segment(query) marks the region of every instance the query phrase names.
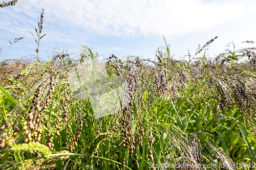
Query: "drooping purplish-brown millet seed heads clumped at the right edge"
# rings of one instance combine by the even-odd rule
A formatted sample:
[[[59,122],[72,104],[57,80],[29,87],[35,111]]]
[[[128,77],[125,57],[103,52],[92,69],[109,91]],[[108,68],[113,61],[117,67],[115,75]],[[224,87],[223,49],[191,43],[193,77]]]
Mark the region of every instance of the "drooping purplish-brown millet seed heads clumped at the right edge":
[[[241,68],[227,67],[219,71],[216,75],[213,75],[209,80],[210,87],[214,89],[211,95],[215,95],[214,97],[218,101],[218,104],[215,104],[213,107],[213,112],[215,113],[217,125],[219,126],[223,108],[232,109],[233,106],[236,106],[245,127],[255,132],[255,120],[252,117],[255,116],[256,105],[252,101],[256,100],[254,92],[256,90],[256,84],[249,80],[251,75],[247,73],[236,74],[236,72],[242,71]],[[217,109],[217,105],[220,106],[219,109]],[[229,126],[231,127],[231,125]]]

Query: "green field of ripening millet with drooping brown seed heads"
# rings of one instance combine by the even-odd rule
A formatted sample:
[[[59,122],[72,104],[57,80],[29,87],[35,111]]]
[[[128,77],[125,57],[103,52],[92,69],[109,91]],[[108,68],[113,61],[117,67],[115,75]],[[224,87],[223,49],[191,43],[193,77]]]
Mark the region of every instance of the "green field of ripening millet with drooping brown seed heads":
[[[256,48],[42,62],[43,14],[37,58],[0,64],[0,169],[255,169]]]

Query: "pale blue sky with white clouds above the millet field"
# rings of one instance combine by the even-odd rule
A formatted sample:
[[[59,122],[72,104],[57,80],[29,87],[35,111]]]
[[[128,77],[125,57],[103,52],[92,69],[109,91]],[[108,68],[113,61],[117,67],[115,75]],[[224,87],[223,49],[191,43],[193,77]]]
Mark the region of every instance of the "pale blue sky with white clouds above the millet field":
[[[20,2],[24,4],[0,8],[0,61],[36,55],[37,44],[30,31],[36,35],[42,8],[42,34],[46,36],[40,40],[39,57],[45,60],[53,56],[54,49],[77,53],[81,45],[92,47],[103,58],[115,54],[155,59],[157,48],[165,44],[163,36],[176,59],[187,55],[187,50],[195,53],[198,44],[216,36],[209,47],[213,54],[223,52],[229,42],[256,42],[254,0]],[[9,40],[16,37],[25,38],[11,45]]]

